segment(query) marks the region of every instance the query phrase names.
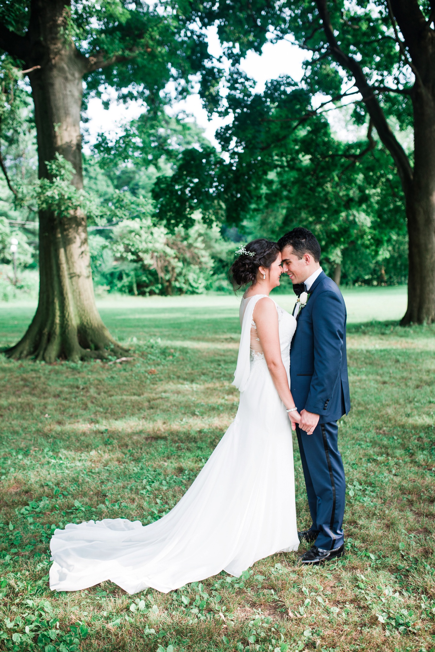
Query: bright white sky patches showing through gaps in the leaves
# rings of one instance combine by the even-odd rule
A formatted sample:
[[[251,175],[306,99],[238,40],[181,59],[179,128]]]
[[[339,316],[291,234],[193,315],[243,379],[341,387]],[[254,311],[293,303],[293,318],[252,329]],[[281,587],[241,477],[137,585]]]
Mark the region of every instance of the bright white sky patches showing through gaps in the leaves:
[[[214,28],[208,29],[208,51],[213,55],[219,55],[220,53],[219,39]],[[249,77],[256,80],[257,91],[262,91],[266,81],[275,79],[282,74],[288,74],[294,80],[299,81],[302,78],[302,62],[306,56],[307,52],[300,50],[300,48],[286,40],[281,40],[275,44],[266,43],[262,48],[261,55],[250,52],[244,59],[242,67]],[[322,99],[324,100],[324,98]],[[115,134],[117,131],[122,130],[123,123],[128,123],[130,120],[139,117],[144,110],[145,107],[140,102],[130,102],[127,105],[118,103],[115,93],[113,93],[113,100],[108,110],[103,108],[101,100],[92,99],[89,102],[87,111],[89,122],[86,125],[87,136],[85,140],[92,143],[95,141],[98,132]],[[178,113],[178,111],[191,113],[198,125],[204,128],[206,138],[214,145],[217,144],[214,134],[216,129],[223,124],[223,121],[218,116],[213,117],[211,120],[208,119],[199,95],[192,94],[186,101],[176,104],[173,112]],[[344,124],[344,115],[341,117],[339,111],[331,111],[328,117],[333,130],[339,138],[353,140],[349,138],[348,125]],[[86,144],[83,149],[89,153],[89,147]]]

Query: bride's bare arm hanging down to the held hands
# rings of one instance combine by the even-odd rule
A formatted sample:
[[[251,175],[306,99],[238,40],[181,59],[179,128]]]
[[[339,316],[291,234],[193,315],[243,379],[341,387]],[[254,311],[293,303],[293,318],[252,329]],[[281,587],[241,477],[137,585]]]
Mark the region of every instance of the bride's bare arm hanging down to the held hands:
[[[287,409],[294,408],[294,400],[290,392],[290,387],[288,387],[287,372],[281,359],[278,314],[274,301],[268,297],[259,299],[257,304],[255,304],[253,319],[257,325],[257,334],[261,348],[263,349],[264,358],[266,359],[277,393]],[[300,414],[295,410],[294,412],[289,412],[288,417],[292,422],[292,429],[294,430],[295,423],[300,422]]]

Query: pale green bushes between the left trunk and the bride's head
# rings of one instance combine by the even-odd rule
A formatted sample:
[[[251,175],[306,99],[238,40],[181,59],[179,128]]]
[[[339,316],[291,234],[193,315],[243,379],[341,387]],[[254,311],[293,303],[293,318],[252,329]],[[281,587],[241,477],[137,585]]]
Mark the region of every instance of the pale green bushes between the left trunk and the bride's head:
[[[219,227],[196,216],[193,226],[173,231],[146,216],[123,220],[111,239],[89,237],[92,274],[98,286],[135,295],[199,294],[226,283],[227,259],[234,243]]]

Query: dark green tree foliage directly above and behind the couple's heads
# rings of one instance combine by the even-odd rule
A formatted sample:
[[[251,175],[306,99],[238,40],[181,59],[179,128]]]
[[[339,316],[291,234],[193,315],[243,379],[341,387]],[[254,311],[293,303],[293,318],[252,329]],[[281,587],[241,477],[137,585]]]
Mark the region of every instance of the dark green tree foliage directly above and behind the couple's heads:
[[[234,115],[219,130],[225,161],[202,147],[182,151],[172,177],[153,188],[163,215],[186,223],[194,208],[223,213],[246,239],[279,238],[303,224],[318,237],[322,264],[344,282],[406,282],[406,221],[391,156],[368,142],[331,134],[326,115],[290,78],[253,93],[240,76],[225,100]]]

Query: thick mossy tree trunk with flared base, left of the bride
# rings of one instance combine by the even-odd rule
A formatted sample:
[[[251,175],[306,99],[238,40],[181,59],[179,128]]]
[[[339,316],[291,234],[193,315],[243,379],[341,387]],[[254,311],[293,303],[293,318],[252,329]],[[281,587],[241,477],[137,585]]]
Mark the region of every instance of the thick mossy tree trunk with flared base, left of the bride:
[[[40,1],[40,11],[63,10],[63,3]],[[76,171],[73,183],[82,188],[79,130],[82,76],[81,55],[59,35],[59,16],[45,16],[42,35],[47,55],[44,65],[29,74],[38,140],[39,177],[49,177],[46,161],[60,153]],[[63,18],[63,14],[61,14]],[[7,355],[79,360],[105,357],[107,349],[120,351],[100,318],[92,286],[86,216],[81,210],[61,218],[52,211],[39,215],[40,288],[35,317],[27,333]]]

